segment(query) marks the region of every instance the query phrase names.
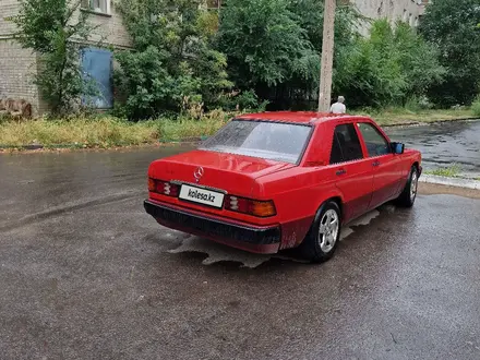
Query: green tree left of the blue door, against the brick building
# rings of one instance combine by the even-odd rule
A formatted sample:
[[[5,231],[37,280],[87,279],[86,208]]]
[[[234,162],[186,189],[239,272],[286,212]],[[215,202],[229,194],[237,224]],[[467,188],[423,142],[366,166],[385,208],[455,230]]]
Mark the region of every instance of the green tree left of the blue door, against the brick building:
[[[35,82],[57,113],[71,110],[83,95],[97,94],[80,68],[79,40],[87,39],[94,27],[79,7],[80,1],[21,0],[12,19],[19,28],[16,40],[39,55]]]

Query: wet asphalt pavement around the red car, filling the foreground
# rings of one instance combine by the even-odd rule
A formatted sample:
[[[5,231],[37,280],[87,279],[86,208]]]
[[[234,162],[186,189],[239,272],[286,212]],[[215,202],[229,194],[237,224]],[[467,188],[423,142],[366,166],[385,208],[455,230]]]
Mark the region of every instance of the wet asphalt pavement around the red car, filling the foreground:
[[[385,206],[320,266],[206,266],[143,212],[157,156],[0,156],[1,359],[480,358],[479,200]]]

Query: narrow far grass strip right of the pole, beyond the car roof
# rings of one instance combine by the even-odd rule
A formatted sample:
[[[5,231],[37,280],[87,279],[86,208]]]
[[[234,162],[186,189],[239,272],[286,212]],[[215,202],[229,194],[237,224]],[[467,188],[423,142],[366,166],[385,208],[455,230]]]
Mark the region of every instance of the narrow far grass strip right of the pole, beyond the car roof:
[[[384,110],[353,111],[355,115],[372,117],[381,125],[401,125],[411,123],[430,123],[455,119],[478,118],[471,109],[448,110],[408,110],[405,108],[387,108]]]

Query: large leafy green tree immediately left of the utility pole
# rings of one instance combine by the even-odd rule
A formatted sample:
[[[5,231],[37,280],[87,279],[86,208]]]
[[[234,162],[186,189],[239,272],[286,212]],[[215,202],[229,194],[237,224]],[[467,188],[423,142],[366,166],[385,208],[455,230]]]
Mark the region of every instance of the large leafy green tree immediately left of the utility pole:
[[[317,61],[287,0],[227,0],[218,37],[230,77],[242,89],[309,76]]]

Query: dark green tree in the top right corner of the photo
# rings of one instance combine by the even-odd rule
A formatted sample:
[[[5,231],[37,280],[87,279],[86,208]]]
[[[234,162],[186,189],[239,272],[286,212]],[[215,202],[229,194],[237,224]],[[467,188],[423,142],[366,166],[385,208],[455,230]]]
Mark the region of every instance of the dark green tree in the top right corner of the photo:
[[[480,91],[480,0],[435,0],[427,7],[420,33],[440,50],[445,82],[430,96],[442,106],[470,104]]]

